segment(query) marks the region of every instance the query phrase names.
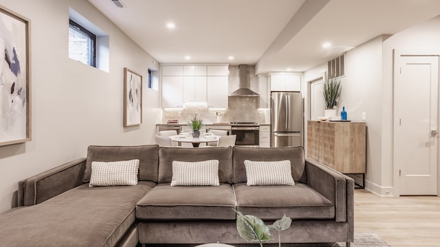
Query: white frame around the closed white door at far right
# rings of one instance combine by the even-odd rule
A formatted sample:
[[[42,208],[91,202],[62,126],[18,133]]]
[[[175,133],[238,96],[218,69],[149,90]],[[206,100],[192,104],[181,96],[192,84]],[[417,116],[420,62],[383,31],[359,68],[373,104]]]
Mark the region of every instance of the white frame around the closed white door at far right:
[[[399,170],[401,165],[395,162],[395,75],[399,73],[399,59],[400,56],[437,56],[439,57],[439,73],[440,73],[440,49],[393,49],[393,180],[395,196],[400,196],[401,193],[401,176]],[[439,76],[439,92],[437,92],[437,128],[440,131],[440,76]],[[437,196],[440,196],[440,142],[437,145]]]

